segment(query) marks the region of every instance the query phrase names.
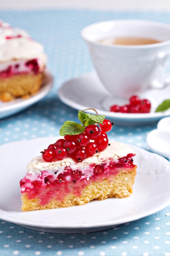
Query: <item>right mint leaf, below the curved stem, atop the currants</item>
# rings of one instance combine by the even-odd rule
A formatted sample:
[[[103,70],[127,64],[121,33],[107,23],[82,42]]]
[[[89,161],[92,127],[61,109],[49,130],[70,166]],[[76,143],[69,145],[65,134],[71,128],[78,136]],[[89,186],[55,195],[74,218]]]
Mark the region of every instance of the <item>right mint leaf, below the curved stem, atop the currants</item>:
[[[80,122],[83,124],[83,126],[88,126],[90,124],[102,124],[103,120],[105,119],[105,116],[103,115],[94,115],[89,113],[84,113],[82,111],[78,112],[78,118]]]

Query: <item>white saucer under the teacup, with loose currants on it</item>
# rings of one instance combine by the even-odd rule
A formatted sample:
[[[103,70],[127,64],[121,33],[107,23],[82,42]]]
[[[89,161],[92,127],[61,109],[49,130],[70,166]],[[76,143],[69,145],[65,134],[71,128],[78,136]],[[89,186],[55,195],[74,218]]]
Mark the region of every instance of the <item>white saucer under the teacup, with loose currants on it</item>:
[[[169,81],[169,75],[167,74],[166,81]],[[114,83],[114,81],[113,81]],[[66,81],[62,87],[58,90],[60,99],[77,110],[84,110],[86,108],[95,108],[99,115],[106,115],[107,117],[113,117],[116,123],[121,124],[145,124],[153,121],[158,121],[162,117],[170,115],[170,110],[165,112],[157,112],[154,110],[166,97],[170,98],[170,86],[167,85],[162,89],[150,89],[146,92],[139,93],[141,99],[149,99],[152,104],[152,110],[150,113],[130,114],[130,113],[115,113],[110,112],[109,108],[112,105],[127,104],[128,100],[115,98],[106,91],[96,72],[84,74],[75,79]],[[93,110],[88,110],[94,114]]]

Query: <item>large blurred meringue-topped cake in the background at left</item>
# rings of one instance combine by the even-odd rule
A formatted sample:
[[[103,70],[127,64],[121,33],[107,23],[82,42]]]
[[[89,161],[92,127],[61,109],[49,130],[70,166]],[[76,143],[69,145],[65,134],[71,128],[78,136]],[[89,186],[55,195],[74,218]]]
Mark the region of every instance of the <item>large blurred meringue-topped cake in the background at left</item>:
[[[45,68],[43,46],[0,20],[0,100],[25,99],[38,92]]]

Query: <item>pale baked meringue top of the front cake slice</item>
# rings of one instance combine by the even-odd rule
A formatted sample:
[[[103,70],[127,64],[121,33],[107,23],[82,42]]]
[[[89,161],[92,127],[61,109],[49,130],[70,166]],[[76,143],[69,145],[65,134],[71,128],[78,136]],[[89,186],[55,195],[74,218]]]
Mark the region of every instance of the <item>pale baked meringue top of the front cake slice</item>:
[[[103,161],[107,161],[107,159],[110,157],[113,159],[118,159],[130,153],[135,154],[135,151],[124,143],[112,141],[110,142],[110,146],[108,146],[105,150],[101,151],[100,153],[96,153],[93,157],[86,158],[80,163],[75,163],[75,161],[70,157],[66,157],[62,161],[56,162],[45,162],[42,159],[42,155],[34,157],[31,162],[26,166],[26,171],[33,175],[37,175],[44,170],[52,172],[57,171],[58,175],[59,173],[63,173],[64,167],[70,165],[72,170],[79,169],[81,171],[84,171],[89,164],[100,164]]]

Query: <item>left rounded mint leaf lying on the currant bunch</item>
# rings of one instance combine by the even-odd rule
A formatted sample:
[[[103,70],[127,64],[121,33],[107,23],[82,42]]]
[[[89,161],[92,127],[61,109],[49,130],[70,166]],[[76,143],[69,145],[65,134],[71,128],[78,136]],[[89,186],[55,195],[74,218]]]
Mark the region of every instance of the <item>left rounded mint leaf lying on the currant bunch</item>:
[[[60,136],[64,135],[75,135],[84,132],[84,127],[82,124],[78,124],[73,121],[66,121],[62,125],[59,134]]]

